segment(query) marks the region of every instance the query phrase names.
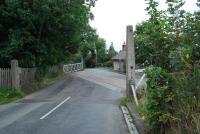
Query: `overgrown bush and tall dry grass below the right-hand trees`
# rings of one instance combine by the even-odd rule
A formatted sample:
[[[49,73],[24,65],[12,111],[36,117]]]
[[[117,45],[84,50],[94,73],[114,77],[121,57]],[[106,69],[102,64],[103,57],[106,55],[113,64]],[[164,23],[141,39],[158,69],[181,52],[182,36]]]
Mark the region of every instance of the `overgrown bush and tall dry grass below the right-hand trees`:
[[[200,66],[167,73],[148,67],[145,117],[153,134],[200,132]]]

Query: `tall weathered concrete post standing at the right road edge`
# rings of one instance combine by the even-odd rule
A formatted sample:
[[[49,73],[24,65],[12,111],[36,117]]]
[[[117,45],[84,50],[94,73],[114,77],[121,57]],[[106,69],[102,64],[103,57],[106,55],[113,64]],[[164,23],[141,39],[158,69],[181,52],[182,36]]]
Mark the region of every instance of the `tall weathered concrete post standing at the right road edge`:
[[[130,84],[135,84],[135,48],[133,40],[133,27],[126,28],[126,94],[132,95]]]

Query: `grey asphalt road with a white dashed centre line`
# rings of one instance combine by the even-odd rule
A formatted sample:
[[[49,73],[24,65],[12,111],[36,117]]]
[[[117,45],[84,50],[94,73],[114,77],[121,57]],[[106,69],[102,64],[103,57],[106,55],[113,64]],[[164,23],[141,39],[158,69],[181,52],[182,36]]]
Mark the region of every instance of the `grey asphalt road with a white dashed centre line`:
[[[0,134],[128,134],[119,99],[125,76],[102,69],[77,72],[0,106]]]

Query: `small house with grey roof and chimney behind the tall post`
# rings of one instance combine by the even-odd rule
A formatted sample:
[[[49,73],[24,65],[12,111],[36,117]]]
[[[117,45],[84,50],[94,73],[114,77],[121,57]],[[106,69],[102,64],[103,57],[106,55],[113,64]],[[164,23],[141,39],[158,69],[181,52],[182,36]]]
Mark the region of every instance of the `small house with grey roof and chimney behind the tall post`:
[[[126,45],[122,45],[122,50],[112,58],[113,70],[121,73],[126,72]]]

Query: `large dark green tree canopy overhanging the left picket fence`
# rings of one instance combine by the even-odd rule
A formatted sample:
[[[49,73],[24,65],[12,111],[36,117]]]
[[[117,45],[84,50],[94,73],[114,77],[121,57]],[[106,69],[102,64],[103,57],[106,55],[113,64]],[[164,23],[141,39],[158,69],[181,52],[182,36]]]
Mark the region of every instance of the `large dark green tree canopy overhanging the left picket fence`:
[[[95,0],[3,0],[0,2],[0,64],[49,66],[76,53],[89,32]]]

